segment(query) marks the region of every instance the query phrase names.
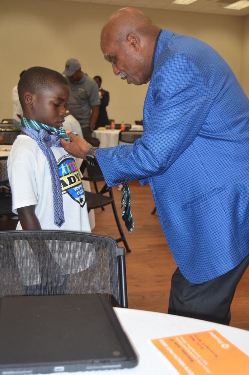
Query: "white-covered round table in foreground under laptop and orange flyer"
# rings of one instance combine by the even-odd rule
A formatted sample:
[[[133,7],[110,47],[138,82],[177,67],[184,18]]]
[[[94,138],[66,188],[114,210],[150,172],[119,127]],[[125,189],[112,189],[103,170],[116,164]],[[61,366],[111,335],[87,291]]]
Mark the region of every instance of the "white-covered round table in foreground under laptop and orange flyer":
[[[177,375],[179,372],[152,344],[151,339],[207,330],[217,330],[238,348],[249,353],[249,331],[246,330],[177,315],[124,308],[114,309],[133,344],[139,363],[131,369],[86,371],[81,372],[82,375]],[[80,372],[73,374],[79,375]]]

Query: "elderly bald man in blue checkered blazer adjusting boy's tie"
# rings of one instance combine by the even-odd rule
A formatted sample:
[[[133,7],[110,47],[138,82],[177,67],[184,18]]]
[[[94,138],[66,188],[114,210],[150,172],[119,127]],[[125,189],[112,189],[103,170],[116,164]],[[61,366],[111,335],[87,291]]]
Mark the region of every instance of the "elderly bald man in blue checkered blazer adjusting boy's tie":
[[[90,149],[109,186],[149,183],[178,268],[169,313],[229,324],[235,288],[249,263],[249,100],[233,72],[200,40],[161,30],[139,10],[115,12],[101,33],[114,74],[150,81],[142,138]]]

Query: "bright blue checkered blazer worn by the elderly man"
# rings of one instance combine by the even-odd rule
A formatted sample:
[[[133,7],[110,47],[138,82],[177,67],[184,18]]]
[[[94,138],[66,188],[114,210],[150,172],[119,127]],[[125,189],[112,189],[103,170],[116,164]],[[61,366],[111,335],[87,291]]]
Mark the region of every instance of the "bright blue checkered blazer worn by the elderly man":
[[[149,182],[163,233],[190,282],[228,272],[249,254],[248,98],[214,49],[163,30],[143,123],[133,147],[97,151],[107,184]]]

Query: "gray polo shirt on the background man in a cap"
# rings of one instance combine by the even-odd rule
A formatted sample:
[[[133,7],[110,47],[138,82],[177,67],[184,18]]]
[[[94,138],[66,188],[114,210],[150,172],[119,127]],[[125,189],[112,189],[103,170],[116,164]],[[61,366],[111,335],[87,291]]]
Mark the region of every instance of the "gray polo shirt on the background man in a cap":
[[[66,78],[68,81],[68,79]],[[81,127],[89,125],[91,107],[100,105],[100,96],[97,83],[83,74],[80,81],[70,83],[70,96],[68,100],[68,109],[71,114],[77,118]]]

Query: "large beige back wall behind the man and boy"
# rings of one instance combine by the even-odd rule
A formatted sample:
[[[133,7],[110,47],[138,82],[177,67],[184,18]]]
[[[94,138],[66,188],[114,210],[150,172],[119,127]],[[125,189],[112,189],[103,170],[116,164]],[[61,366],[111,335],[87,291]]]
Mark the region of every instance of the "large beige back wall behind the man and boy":
[[[12,117],[12,87],[23,69],[39,65],[61,72],[70,57],[80,60],[90,77],[103,78],[103,88],[110,92],[109,118],[127,123],[141,119],[146,85],[129,86],[115,77],[99,46],[101,28],[118,8],[72,1],[1,0],[0,119]],[[241,64],[241,57],[248,67],[249,26],[241,17],[142,10],[160,27],[197,37],[214,47],[248,91],[248,69]],[[247,52],[242,51],[242,43]]]

